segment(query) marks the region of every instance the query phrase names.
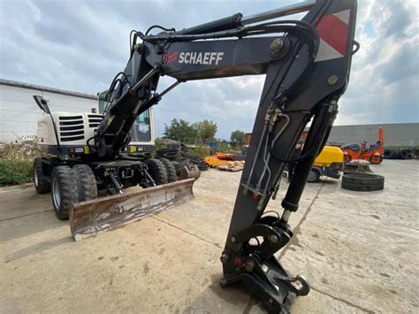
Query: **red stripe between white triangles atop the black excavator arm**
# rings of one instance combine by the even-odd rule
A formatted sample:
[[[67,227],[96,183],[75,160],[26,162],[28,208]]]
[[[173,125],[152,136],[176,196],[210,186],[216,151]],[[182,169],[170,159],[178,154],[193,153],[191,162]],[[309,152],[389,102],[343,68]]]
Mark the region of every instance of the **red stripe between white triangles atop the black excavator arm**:
[[[349,26],[333,14],[325,15],[316,25],[317,32],[331,47],[345,56],[347,51],[347,31]]]

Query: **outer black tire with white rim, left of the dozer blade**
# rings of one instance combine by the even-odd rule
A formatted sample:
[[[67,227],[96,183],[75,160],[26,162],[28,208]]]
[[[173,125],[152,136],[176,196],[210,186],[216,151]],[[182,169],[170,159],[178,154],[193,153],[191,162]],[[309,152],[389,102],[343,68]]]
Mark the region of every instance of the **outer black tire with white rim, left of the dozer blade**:
[[[59,207],[54,202],[54,180],[57,180],[60,191]],[[77,203],[79,200],[77,181],[72,168],[68,165],[58,165],[51,173],[51,200],[57,218],[60,220],[68,219],[72,203]]]

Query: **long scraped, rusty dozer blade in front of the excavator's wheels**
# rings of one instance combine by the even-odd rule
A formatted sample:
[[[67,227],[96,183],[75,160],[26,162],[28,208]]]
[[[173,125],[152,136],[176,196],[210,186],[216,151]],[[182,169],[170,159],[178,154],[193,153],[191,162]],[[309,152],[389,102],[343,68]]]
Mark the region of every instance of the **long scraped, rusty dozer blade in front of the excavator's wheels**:
[[[194,198],[194,179],[180,180],[141,191],[74,203],[70,227],[75,241],[124,226]]]

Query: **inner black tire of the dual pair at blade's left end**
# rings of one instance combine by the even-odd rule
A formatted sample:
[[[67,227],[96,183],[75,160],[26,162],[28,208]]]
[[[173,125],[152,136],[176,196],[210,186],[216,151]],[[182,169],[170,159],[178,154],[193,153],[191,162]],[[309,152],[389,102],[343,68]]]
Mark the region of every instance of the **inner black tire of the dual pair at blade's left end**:
[[[95,174],[88,165],[73,165],[72,172],[76,178],[79,202],[97,198]]]

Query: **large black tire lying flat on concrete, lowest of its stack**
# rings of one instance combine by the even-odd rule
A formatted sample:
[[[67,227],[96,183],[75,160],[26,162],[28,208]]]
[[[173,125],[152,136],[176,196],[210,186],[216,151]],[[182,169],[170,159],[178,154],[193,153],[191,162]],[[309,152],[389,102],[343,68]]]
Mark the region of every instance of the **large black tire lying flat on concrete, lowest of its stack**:
[[[385,177],[370,173],[350,173],[342,176],[342,188],[369,192],[384,189]]]

